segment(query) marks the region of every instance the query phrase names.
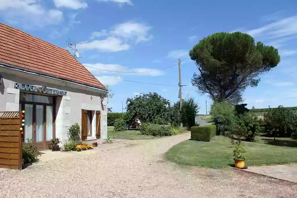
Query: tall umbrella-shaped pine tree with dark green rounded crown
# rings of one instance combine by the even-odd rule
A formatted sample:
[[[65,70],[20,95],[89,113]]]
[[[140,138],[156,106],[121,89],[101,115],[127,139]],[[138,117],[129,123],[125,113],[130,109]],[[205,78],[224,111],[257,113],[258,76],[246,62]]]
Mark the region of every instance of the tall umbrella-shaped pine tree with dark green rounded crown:
[[[253,37],[241,32],[209,35],[189,51],[189,56],[198,67],[199,73],[192,78],[198,92],[232,104],[240,103],[243,91],[257,86],[260,74],[280,62],[276,48],[255,44]]]

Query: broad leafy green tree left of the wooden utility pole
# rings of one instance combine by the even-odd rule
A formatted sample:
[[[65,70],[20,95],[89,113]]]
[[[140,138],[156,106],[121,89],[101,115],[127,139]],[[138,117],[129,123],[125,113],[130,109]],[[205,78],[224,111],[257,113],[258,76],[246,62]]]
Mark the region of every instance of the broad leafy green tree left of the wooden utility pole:
[[[168,124],[172,116],[170,101],[156,92],[140,94],[126,101],[128,121],[131,123],[138,116],[141,122]]]

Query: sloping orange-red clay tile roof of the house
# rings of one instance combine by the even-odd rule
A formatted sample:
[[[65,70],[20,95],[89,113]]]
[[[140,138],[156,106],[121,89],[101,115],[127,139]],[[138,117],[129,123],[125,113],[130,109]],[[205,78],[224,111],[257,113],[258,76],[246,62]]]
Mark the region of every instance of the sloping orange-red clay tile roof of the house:
[[[105,88],[67,50],[2,23],[0,23],[0,62]]]

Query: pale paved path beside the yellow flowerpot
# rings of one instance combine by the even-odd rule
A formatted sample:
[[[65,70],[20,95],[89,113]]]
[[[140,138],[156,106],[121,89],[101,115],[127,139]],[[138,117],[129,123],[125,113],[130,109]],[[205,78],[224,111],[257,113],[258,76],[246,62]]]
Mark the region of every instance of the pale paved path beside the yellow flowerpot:
[[[265,175],[279,180],[297,183],[297,164],[276,166],[250,166],[248,167],[248,169],[243,170],[246,172]]]

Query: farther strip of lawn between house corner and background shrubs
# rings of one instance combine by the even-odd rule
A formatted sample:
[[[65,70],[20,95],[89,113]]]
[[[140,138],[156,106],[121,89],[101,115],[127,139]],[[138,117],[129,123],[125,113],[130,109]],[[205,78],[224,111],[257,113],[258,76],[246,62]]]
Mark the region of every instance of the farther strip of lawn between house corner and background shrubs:
[[[140,131],[138,130],[127,130],[127,131],[113,131],[112,126],[107,127],[107,132],[109,136],[113,136],[114,139],[131,139],[131,140],[137,140],[137,139],[155,139],[159,138],[156,136],[147,136],[140,134]],[[179,134],[186,133],[189,131],[182,131]]]

